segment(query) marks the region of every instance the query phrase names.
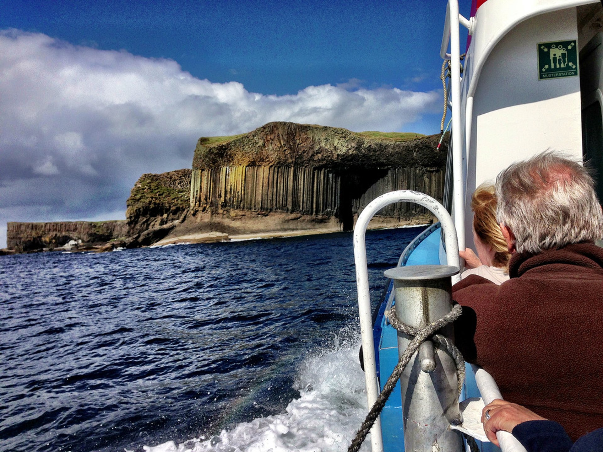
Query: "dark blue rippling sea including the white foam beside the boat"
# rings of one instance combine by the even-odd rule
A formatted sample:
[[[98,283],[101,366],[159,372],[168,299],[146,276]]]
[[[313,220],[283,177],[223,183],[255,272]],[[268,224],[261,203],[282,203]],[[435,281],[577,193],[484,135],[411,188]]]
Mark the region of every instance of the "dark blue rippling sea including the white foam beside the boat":
[[[420,229],[367,233],[374,303]],[[350,233],[0,257],[0,450],[345,451],[355,282]]]

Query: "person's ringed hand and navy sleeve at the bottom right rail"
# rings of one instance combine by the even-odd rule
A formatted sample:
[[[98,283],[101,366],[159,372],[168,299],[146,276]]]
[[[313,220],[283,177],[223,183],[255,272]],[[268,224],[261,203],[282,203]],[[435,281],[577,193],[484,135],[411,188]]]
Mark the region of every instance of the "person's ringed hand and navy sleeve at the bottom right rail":
[[[528,452],[603,452],[603,428],[581,436],[575,444],[563,427],[526,407],[496,399],[482,410],[484,432],[499,445],[496,432],[511,433]]]

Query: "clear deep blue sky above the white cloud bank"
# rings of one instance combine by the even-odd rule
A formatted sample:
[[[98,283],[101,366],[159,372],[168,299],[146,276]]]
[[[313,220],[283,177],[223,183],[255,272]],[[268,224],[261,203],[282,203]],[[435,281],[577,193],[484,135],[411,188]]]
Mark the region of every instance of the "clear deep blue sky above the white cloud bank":
[[[266,95],[349,79],[438,87],[429,78],[440,64],[441,0],[3,3],[0,28],[171,58],[195,77]]]

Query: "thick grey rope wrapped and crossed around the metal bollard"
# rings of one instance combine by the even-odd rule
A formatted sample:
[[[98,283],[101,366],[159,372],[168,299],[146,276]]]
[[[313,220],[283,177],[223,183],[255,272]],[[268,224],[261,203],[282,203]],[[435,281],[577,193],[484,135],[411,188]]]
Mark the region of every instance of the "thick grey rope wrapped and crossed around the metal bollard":
[[[461,394],[461,389],[463,388],[463,381],[465,380],[465,361],[463,359],[463,355],[461,354],[461,352],[458,351],[458,349],[454,346],[454,344],[452,344],[452,342],[447,337],[442,336],[441,334],[435,334],[435,332],[440,330],[440,328],[455,321],[461,315],[461,305],[455,304],[455,306],[452,307],[452,310],[445,316],[443,316],[441,319],[438,319],[435,322],[431,322],[429,325],[426,325],[425,328],[421,329],[410,327],[409,325],[400,322],[396,318],[395,310],[396,306],[393,306],[389,311],[385,312],[385,316],[390,321],[391,325],[396,328],[396,330],[404,334],[408,334],[408,336],[414,337],[412,337],[412,341],[408,344],[408,347],[406,347],[406,350],[404,351],[404,353],[402,353],[402,356],[400,356],[396,367],[394,368],[393,372],[391,372],[390,378],[388,378],[387,383],[385,383],[383,391],[381,391],[381,394],[379,394],[379,396],[377,397],[377,400],[375,401],[373,407],[368,412],[368,415],[364,419],[364,422],[362,422],[362,425],[360,426],[358,432],[356,432],[356,436],[352,440],[352,444],[350,444],[350,447],[347,449],[347,452],[358,452],[360,450],[362,442],[364,442],[365,438],[368,435],[368,432],[370,431],[371,427],[373,427],[374,422],[377,420],[377,417],[379,417],[381,410],[385,406],[385,402],[387,402],[387,399],[390,397],[391,392],[396,387],[396,383],[399,380],[400,375],[402,375],[402,372],[406,368],[406,365],[408,365],[409,361],[411,360],[411,357],[418,350],[418,347],[419,345],[421,345],[422,342],[431,339],[431,341],[434,342],[436,346],[448,351],[450,356],[452,356],[452,359],[454,359],[456,363],[458,394]]]

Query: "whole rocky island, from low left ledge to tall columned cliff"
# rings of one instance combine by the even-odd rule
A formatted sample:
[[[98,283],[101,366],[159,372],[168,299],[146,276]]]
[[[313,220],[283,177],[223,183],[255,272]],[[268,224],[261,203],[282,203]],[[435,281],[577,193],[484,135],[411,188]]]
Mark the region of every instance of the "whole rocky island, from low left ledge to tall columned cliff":
[[[139,178],[125,221],[9,222],[7,245],[17,253],[109,251],[352,230],[359,212],[382,193],[411,189],[441,200],[447,141],[437,149],[439,138],[291,122],[201,137],[191,169]],[[371,225],[432,220],[422,207],[399,203]]]

